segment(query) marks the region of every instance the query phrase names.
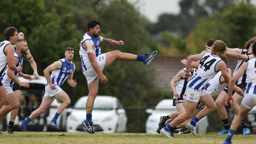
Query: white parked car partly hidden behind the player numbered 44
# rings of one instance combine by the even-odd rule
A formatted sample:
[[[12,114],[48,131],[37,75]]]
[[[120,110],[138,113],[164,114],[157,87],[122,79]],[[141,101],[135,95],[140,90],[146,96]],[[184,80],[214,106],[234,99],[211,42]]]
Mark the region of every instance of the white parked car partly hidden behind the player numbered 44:
[[[146,122],[146,133],[157,133],[158,122],[161,116],[167,116],[175,111],[173,106],[173,99],[161,100],[155,107],[155,109],[147,109],[146,112],[150,113]],[[197,133],[206,133],[208,127],[207,116],[199,120],[197,123]]]

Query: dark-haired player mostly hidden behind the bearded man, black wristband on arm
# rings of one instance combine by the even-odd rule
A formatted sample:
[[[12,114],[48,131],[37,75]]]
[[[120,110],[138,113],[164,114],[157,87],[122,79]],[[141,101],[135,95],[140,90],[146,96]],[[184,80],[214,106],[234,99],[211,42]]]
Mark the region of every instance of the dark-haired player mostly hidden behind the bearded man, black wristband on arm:
[[[25,36],[24,36],[24,33],[22,30],[17,30],[17,33],[18,33],[18,39],[25,39]],[[14,47],[16,50],[16,45],[14,45]],[[33,75],[34,75],[35,79],[38,79],[39,75],[37,73],[37,64],[35,63],[29,49],[26,51],[26,54],[24,54],[24,57],[30,63],[30,65],[34,71]],[[20,100],[20,85],[18,85],[17,83],[14,83],[13,84],[13,92],[14,92],[17,100]],[[9,134],[13,134],[13,125],[14,125],[15,118],[17,117],[17,114],[19,111],[19,102],[20,101],[18,101],[18,107],[11,111],[11,118],[10,118],[9,124],[6,129],[6,132]]]

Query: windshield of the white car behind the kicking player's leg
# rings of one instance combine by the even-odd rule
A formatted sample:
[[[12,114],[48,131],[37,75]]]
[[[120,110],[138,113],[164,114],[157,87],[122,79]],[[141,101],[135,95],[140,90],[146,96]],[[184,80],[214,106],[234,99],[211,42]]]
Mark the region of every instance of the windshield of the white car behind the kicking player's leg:
[[[87,97],[80,98],[74,105],[74,108],[85,109],[86,100],[87,100]],[[113,110],[113,102],[111,99],[105,99],[105,98],[101,99],[100,97],[97,97],[94,101],[93,109],[104,110],[104,111]]]

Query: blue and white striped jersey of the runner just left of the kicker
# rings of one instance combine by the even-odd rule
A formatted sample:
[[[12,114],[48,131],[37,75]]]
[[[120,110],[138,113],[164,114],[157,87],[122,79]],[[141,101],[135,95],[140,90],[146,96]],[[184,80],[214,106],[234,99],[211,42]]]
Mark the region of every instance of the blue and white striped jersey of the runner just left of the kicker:
[[[65,58],[59,59],[62,62],[61,68],[52,71],[50,79],[52,83],[57,84],[59,87],[64,83],[64,81],[69,77],[69,75],[74,71],[74,64],[71,61],[69,64]],[[48,83],[46,84],[46,86]]]

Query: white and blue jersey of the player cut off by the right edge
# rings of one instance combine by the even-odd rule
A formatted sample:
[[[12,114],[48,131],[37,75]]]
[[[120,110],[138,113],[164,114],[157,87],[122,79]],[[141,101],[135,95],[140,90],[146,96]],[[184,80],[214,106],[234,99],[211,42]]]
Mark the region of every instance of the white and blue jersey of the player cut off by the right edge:
[[[256,94],[256,58],[250,59],[246,68],[248,78],[246,94]]]

